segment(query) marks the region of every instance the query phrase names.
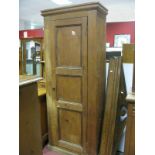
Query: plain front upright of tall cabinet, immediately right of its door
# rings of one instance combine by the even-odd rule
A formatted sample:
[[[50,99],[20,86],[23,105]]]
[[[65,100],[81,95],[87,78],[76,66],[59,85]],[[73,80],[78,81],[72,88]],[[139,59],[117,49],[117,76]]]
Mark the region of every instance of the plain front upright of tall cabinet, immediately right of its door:
[[[96,155],[96,96],[97,96],[97,36],[96,11],[88,15],[88,121],[87,121],[87,150],[89,155]]]

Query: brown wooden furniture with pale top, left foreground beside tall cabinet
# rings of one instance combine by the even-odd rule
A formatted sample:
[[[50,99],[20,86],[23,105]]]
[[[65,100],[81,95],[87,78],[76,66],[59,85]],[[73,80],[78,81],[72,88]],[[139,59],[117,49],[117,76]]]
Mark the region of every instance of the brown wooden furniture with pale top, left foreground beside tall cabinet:
[[[41,123],[35,76],[20,76],[19,83],[19,154],[42,155]]]

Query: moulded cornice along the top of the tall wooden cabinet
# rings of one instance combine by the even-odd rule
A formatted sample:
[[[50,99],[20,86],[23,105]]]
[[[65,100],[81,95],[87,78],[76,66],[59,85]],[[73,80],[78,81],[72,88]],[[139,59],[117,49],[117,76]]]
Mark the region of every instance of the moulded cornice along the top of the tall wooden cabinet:
[[[71,5],[71,6],[65,6],[65,7],[59,7],[54,9],[46,9],[41,11],[42,16],[48,16],[48,15],[54,15],[54,14],[62,14],[65,12],[73,12],[73,11],[82,11],[82,10],[98,10],[99,12],[103,14],[107,14],[108,10],[101,5],[99,2],[93,2],[93,3],[84,3],[79,5]]]

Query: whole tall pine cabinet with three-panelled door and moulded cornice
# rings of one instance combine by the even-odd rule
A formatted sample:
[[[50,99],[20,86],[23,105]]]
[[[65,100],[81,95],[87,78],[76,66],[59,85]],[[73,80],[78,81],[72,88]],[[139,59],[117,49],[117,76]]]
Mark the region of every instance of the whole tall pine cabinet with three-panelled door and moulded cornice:
[[[88,3],[42,11],[49,146],[96,155],[105,101],[107,9]]]

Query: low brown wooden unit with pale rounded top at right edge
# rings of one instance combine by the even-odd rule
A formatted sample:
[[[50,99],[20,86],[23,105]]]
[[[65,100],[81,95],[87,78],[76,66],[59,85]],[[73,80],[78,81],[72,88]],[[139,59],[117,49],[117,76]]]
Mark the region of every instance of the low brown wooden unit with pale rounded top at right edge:
[[[135,155],[135,95],[129,94],[126,100],[128,103],[128,118],[124,155]]]

